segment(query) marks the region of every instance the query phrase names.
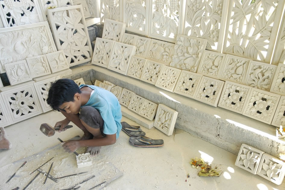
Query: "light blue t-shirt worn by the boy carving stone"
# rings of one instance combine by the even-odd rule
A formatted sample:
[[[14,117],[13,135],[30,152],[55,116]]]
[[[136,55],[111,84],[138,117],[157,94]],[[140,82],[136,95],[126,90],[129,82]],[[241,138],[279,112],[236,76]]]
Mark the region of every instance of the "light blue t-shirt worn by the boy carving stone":
[[[118,139],[122,129],[122,112],[117,97],[101,87],[85,84],[81,84],[79,87],[82,88],[84,86],[94,90],[94,93],[90,96],[88,102],[84,106],[92,106],[97,109],[104,120],[103,133],[106,135],[113,135],[116,133],[116,139]],[[81,108],[82,107],[83,106],[81,106]]]

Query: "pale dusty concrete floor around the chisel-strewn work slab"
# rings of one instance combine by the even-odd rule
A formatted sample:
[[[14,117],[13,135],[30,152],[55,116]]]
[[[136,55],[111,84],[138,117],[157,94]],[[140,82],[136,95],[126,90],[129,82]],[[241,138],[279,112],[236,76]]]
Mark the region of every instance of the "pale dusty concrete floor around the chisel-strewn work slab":
[[[41,123],[54,125],[62,119],[64,116],[59,112],[50,111],[6,127],[13,147],[11,150],[0,150],[0,167],[59,144],[58,137],[68,140],[76,135],[82,135],[76,127],[49,138],[40,132]],[[122,121],[137,125],[126,118]],[[195,138],[185,131],[177,129],[174,135],[166,136],[156,128],[142,129],[147,137],[163,139],[164,146],[134,147],[129,144],[129,137],[121,132],[116,144],[102,147],[100,154],[106,158],[106,162],[113,163],[124,175],[104,189],[285,189],[285,180],[282,185],[277,186],[258,175],[240,169],[234,165],[236,155]],[[213,163],[213,166],[218,165],[223,174],[220,177],[197,176],[199,170],[189,164],[193,157],[202,157],[205,161]],[[13,172],[7,173],[10,176]],[[1,173],[0,177],[8,179],[7,173]],[[189,178],[186,177],[188,173]]]

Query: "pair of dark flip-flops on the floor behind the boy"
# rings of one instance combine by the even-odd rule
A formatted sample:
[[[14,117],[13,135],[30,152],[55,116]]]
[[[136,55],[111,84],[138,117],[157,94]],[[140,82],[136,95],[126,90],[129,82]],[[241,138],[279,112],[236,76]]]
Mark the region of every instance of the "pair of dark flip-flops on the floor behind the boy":
[[[164,142],[162,139],[151,139],[145,137],[145,132],[141,130],[139,126],[129,125],[126,122],[122,122],[122,131],[130,136],[129,142],[136,147],[161,147]]]

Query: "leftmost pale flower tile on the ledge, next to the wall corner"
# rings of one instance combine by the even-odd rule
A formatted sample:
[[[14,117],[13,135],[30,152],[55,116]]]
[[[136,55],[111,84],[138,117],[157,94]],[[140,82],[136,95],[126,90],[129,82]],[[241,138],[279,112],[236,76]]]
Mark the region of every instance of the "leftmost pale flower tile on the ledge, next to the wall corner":
[[[92,64],[107,68],[115,41],[96,38]]]

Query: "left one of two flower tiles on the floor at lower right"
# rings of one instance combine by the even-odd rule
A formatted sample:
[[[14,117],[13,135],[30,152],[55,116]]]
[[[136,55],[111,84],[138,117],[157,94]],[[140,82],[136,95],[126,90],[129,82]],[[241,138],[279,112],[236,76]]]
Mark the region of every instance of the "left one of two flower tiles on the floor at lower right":
[[[263,151],[247,144],[242,144],[235,165],[250,173],[256,174],[262,154],[264,154]]]

